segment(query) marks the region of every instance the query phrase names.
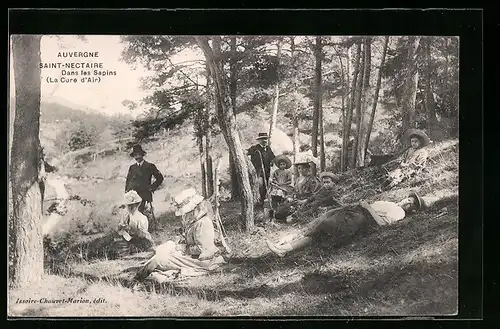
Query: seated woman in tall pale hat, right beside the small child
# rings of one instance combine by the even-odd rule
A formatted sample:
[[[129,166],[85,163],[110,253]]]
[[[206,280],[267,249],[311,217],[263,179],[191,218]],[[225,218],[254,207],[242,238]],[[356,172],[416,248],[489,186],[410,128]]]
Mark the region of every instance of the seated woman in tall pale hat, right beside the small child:
[[[274,214],[275,219],[292,222],[292,215],[297,209],[321,189],[321,181],[311,172],[311,166],[315,163],[316,159],[308,153],[297,156],[294,165],[297,166],[300,176],[295,181],[293,196],[278,207]]]

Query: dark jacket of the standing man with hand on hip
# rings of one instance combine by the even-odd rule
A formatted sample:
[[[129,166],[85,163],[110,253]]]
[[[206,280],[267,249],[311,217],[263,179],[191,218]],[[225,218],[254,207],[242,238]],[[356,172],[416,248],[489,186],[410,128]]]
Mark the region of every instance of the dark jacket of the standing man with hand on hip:
[[[155,178],[155,181],[151,183],[151,179]],[[150,162],[144,160],[144,162],[139,166],[134,163],[128,169],[127,181],[125,182],[125,192],[134,190],[139,194],[143,201],[152,202],[153,193],[158,186],[163,183],[163,175],[156,168],[156,166]]]

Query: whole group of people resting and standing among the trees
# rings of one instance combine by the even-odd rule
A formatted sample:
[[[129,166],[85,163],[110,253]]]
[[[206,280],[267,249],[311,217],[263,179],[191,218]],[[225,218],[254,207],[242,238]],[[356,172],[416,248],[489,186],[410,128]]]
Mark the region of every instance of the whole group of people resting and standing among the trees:
[[[428,154],[424,147],[429,144],[425,133],[411,130],[403,138],[409,141],[410,148],[399,159],[400,166],[388,173],[385,188],[395,186],[425,166]],[[311,153],[297,154],[292,164],[287,155],[274,155],[266,133],[259,134],[257,140],[258,144],[250,147],[247,155],[262,179],[261,200],[269,201],[271,220],[291,223],[311,219],[297,236],[286,237],[276,244],[267,241],[269,249],[279,256],[325,236],[333,239],[352,237],[365,228],[390,225],[405,218],[407,213],[428,207],[435,201],[430,196],[421,197],[411,192],[397,203],[376,201],[368,204],[362,201],[342,205],[336,190],[338,177],[331,172],[321,172],[319,177],[314,175],[312,169],[317,160]],[[175,214],[182,219],[181,235],[155,246],[150,233],[157,225],[152,196],[163,182],[163,175],[154,164],[144,160],[145,154],[140,145],[134,146],[131,156],[136,163],[130,166],[125,184],[127,211],[118,227],[123,240],[146,241],[149,249],[155,251],[136,278],[142,280],[152,273],[158,275],[169,271],[187,271],[196,275],[223,264],[227,250],[217,245],[222,232],[215,230],[214,210],[210,201],[194,189],[184,190],[172,200]],[[273,165],[276,169],[271,175]],[[295,179],[292,165],[299,173]],[[318,213],[320,208],[324,209],[321,215]]]

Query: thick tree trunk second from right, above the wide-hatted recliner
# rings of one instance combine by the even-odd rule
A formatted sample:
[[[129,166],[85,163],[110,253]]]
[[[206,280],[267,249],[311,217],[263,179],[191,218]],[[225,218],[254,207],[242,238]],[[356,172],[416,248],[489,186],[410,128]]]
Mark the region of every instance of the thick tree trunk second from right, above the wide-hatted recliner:
[[[406,78],[403,84],[401,110],[403,112],[402,133],[415,126],[415,100],[417,98],[418,70],[417,50],[420,37],[408,37],[408,57],[406,58]]]

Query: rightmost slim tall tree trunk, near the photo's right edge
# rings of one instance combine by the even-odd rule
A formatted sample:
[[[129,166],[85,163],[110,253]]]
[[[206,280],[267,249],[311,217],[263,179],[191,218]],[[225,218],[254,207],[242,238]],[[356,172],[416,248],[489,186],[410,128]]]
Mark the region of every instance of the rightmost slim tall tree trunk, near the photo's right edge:
[[[432,140],[438,140],[439,127],[436,117],[436,103],[434,101],[434,92],[432,91],[432,55],[431,55],[431,38],[422,40],[425,42],[425,108],[427,112],[427,132]]]

